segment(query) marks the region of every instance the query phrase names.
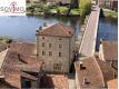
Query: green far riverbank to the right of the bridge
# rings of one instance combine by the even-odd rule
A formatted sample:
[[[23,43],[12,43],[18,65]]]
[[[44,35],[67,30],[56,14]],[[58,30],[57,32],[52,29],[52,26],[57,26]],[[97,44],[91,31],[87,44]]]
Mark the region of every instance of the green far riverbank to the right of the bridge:
[[[118,12],[116,12],[115,10],[110,10],[110,9],[101,9],[102,10],[102,14],[103,17],[107,18],[118,18]]]

